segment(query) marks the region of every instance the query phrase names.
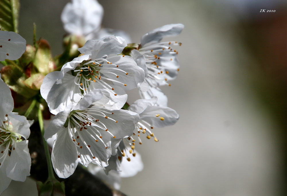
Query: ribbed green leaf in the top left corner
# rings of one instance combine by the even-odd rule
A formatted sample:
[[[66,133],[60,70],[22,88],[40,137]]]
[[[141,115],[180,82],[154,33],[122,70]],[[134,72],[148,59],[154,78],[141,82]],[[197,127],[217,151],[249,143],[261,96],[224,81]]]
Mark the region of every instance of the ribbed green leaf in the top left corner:
[[[0,0],[0,28],[18,33],[19,0]]]

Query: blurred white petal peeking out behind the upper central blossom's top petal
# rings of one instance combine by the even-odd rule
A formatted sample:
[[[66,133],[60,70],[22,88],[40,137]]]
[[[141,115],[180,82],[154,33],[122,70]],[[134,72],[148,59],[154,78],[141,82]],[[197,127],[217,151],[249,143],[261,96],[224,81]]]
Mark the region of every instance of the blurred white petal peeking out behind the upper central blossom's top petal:
[[[131,43],[131,37],[129,34],[127,34],[124,31],[121,30],[115,30],[115,29],[109,29],[109,28],[102,28],[100,31],[93,33],[93,35],[89,35],[87,38],[93,39],[93,40],[98,40],[107,36],[118,36],[122,37],[127,41],[127,43]]]

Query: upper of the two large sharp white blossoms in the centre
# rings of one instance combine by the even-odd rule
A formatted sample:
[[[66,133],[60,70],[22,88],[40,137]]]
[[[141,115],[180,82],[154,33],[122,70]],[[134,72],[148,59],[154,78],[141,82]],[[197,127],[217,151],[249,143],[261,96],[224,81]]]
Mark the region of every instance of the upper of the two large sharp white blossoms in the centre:
[[[127,46],[121,37],[109,36],[88,40],[79,51],[84,54],[63,65],[61,71],[51,72],[40,88],[51,113],[63,111],[69,104],[76,105],[81,97],[93,89],[110,93],[110,105],[120,109],[127,100],[125,90],[144,81],[144,60],[135,62],[120,54]],[[142,56],[144,59],[144,56]],[[72,71],[73,75],[67,72]],[[83,95],[82,95],[83,94]]]

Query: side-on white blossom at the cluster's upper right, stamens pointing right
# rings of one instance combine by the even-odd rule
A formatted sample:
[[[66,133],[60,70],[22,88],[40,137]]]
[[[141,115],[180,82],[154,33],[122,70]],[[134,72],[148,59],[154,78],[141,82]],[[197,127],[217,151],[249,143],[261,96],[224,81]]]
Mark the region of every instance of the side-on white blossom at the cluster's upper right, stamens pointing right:
[[[149,84],[148,91],[139,88],[143,99],[158,97],[156,105],[167,106],[167,97],[159,86],[170,85],[168,81],[177,77],[179,71],[178,52],[172,49],[174,45],[181,45],[177,42],[160,42],[167,36],[175,36],[183,30],[183,24],[169,24],[154,29],[141,37],[141,45],[138,51],[146,58],[148,76],[146,82]],[[131,54],[133,57],[133,54]]]

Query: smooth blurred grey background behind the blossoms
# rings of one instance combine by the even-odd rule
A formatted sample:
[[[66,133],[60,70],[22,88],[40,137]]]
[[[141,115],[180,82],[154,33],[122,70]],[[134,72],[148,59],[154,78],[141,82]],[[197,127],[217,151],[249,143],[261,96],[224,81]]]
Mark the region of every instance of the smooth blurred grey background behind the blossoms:
[[[67,0],[21,0],[19,34],[48,40],[54,55],[65,34]],[[122,179],[127,195],[287,195],[286,1],[99,1],[103,26],[125,30],[133,42],[169,23],[183,32],[181,68],[162,87],[179,121],[142,138],[144,170]],[[261,9],[276,10],[260,13]],[[129,92],[128,102],[138,99]],[[20,191],[21,190],[21,191]],[[19,193],[21,192],[21,193]],[[37,195],[36,184],[12,182],[7,195]]]

